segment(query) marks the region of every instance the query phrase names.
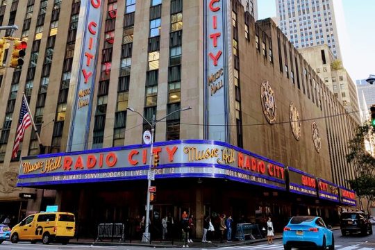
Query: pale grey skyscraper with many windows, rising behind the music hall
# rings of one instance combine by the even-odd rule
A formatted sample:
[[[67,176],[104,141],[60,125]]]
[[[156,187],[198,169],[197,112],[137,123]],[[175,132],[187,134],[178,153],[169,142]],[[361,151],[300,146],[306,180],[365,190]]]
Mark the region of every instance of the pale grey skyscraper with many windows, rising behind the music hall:
[[[334,6],[339,3],[334,0],[275,1],[278,26],[296,49],[328,44],[335,58],[342,60]]]

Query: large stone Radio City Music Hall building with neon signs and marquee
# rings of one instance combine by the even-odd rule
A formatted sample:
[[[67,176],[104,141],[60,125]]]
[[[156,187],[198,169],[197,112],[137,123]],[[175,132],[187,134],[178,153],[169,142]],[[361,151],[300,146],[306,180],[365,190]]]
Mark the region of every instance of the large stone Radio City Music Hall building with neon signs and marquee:
[[[187,210],[197,233],[215,213],[273,215],[281,228],[356,206],[345,182],[356,120],[276,24],[240,1],[3,3],[2,24],[17,24],[28,48],[22,67],[0,74],[1,214],[56,204],[81,235],[142,217],[150,127],[127,106],[149,121],[192,107],[156,124],[154,223]],[[11,160],[22,92],[46,154],[29,128]]]

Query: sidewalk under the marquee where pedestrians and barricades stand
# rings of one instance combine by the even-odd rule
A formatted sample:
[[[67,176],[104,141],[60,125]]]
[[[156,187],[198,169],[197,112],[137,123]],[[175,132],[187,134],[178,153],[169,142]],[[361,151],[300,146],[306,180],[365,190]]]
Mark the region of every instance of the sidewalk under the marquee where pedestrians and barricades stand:
[[[276,239],[281,239],[283,238],[283,234],[282,233],[275,233],[275,236],[274,236],[274,240]],[[194,242],[192,243],[188,243],[189,247],[193,247],[193,248],[210,248],[210,247],[235,247],[235,246],[244,246],[244,245],[247,245],[247,244],[254,244],[254,243],[257,243],[257,242],[267,242],[267,238],[263,238],[263,239],[256,239],[256,240],[246,240],[245,242],[242,242],[242,241],[239,241],[239,240],[234,240],[233,242],[224,242],[224,243],[220,243],[219,240],[214,240],[212,243],[206,243],[206,242],[201,242],[201,239],[194,239]],[[94,242],[93,240],[89,240],[89,239],[79,239],[79,240],[76,240],[76,239],[72,239],[69,241],[69,244],[85,244],[85,245],[97,245],[97,246],[104,246],[104,245],[116,245],[116,246],[133,246],[133,247],[158,247],[158,248],[176,248],[176,247],[181,247],[183,246],[183,242],[181,241],[174,241],[173,244],[172,244],[172,241],[162,241],[160,242],[159,241],[153,241],[150,243],[146,243],[146,242],[140,242],[138,240],[133,240],[132,242],[129,242],[128,240],[126,240],[125,242],[117,242],[116,240],[113,240],[113,242],[111,242],[111,240],[103,240],[102,242],[101,241],[98,241],[98,242]]]

